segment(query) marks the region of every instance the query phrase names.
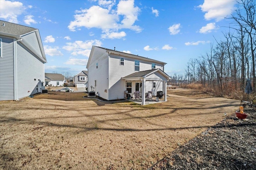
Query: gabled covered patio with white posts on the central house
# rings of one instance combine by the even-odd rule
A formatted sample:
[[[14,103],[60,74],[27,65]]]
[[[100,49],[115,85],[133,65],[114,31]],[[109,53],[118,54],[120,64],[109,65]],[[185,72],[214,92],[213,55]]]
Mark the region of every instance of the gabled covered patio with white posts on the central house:
[[[140,91],[141,99],[137,102],[140,102],[141,105],[146,105],[146,103],[149,102],[155,102],[156,99],[153,101],[148,101],[146,99],[146,93],[148,91],[152,91],[153,95],[156,96],[157,91],[163,91],[164,96],[162,101],[167,101],[167,81],[170,79],[170,77],[164,73],[161,69],[152,69],[152,70],[146,70],[146,71],[139,71],[136,73],[132,73],[130,75],[127,75],[126,77],[122,77],[121,79],[124,79],[126,81],[126,91],[132,96],[135,92],[135,88],[132,88],[132,83],[136,83],[136,90]],[[156,85],[157,82],[157,85]],[[131,84],[131,87],[128,87],[127,85]],[[137,87],[138,85],[138,87]],[[131,101],[133,101],[132,99]]]

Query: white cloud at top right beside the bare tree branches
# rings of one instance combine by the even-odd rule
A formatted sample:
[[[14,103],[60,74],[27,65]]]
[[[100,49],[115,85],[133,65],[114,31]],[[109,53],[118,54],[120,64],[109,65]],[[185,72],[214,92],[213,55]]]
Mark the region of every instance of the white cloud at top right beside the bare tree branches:
[[[214,19],[218,22],[234,11],[234,4],[236,4],[236,0],[204,0],[204,4],[198,7],[206,12],[204,15],[206,20]]]

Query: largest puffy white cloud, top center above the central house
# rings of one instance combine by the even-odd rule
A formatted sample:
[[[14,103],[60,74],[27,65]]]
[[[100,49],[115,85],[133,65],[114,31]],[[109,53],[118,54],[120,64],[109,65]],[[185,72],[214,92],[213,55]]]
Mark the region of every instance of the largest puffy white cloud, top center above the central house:
[[[140,12],[140,8],[134,6],[134,0],[121,0],[117,8],[113,8],[114,3],[115,1],[101,0],[99,1],[100,6],[76,10],[74,21],[71,21],[68,26],[69,30],[76,31],[81,27],[99,28],[106,35],[118,32],[123,28],[141,32],[140,26],[134,25]],[[120,36],[116,36],[116,38],[120,38]]]

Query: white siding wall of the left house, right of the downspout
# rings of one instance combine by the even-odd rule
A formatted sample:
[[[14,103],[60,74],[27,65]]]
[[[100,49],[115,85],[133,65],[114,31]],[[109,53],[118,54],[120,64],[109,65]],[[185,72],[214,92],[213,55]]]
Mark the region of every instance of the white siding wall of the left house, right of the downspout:
[[[44,63],[39,61],[26,47],[17,43],[18,99],[37,93],[37,89],[40,93],[42,81],[44,81]]]

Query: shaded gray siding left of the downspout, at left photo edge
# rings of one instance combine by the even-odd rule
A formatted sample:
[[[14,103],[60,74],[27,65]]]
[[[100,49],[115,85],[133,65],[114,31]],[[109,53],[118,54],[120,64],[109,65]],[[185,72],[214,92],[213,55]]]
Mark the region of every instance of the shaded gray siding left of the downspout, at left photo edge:
[[[0,101],[14,100],[14,47],[13,39],[1,37]]]

